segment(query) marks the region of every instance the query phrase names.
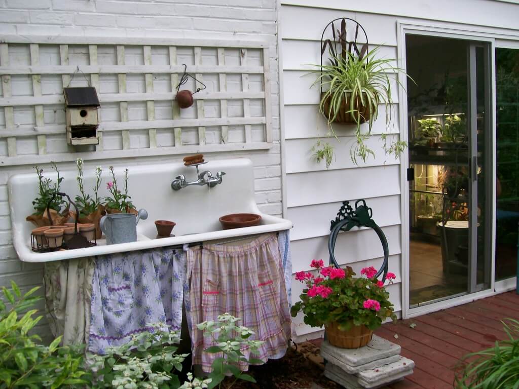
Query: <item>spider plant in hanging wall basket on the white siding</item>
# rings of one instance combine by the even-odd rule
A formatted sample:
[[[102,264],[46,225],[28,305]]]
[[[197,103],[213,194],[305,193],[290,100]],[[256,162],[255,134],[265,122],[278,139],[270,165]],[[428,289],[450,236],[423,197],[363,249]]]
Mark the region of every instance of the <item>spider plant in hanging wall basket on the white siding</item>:
[[[375,156],[365,141],[371,135],[373,122],[378,117],[380,105],[386,107],[386,124],[389,128],[392,119],[391,85],[389,73],[403,72],[399,67],[392,65],[394,60],[377,58],[378,47],[368,51],[365,44],[360,52],[356,50],[342,50],[340,55],[335,54],[330,45],[330,64],[316,65],[318,70],[310,73],[319,73],[317,80],[312,84],[319,84],[323,92],[319,110],[327,118],[330,135],[337,138],[332,123],[351,122],[356,124],[356,143],[350,150],[350,156],[357,164],[357,157],[365,162],[368,155]],[[404,87],[400,80],[397,82]],[[361,124],[368,122],[366,132],[361,131]],[[385,151],[399,157],[406,144],[403,141],[386,143]],[[329,159],[331,160],[331,159]],[[326,168],[328,168],[328,164]]]

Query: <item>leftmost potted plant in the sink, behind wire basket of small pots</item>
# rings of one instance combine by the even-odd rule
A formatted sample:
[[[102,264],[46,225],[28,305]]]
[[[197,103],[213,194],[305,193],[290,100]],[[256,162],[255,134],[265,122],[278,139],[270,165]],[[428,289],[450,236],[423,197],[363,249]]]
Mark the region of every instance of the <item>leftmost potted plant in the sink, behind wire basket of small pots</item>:
[[[60,185],[63,181],[56,163],[51,162],[50,164],[52,169],[58,174],[56,182],[53,182],[50,178],[45,178],[43,169],[40,169],[39,166],[34,166],[38,175],[38,195],[32,202],[35,212],[28,216],[26,220],[31,221],[37,227],[50,226],[51,224],[62,225],[71,217],[75,217],[75,213],[70,211],[70,204],[61,211],[61,208],[65,205],[65,200],[61,196],[56,196],[50,201],[54,193],[60,191]],[[47,205],[49,212],[47,212]],[[49,220],[48,213],[50,213],[51,220]]]

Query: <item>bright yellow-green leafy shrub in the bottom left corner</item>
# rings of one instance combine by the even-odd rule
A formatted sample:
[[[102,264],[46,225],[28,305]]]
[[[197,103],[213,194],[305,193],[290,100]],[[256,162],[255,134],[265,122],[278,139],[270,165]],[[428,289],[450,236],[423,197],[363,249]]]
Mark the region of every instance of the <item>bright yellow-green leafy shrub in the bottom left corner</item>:
[[[41,339],[37,335],[29,334],[42,318],[34,317],[35,309],[26,311],[39,300],[34,296],[37,289],[22,295],[15,282],[11,281],[10,289],[3,287],[10,307],[0,300],[0,388],[54,389],[87,384],[90,380],[83,370],[81,348],[59,347],[61,337],[45,346],[38,343]]]

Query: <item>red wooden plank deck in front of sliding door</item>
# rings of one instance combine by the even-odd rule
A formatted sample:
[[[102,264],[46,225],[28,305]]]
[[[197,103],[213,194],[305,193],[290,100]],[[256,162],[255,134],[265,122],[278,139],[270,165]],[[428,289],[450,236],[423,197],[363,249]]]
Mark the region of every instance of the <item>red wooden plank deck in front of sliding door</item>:
[[[459,359],[505,339],[500,321],[507,317],[519,319],[515,291],[383,325],[375,334],[400,344],[402,355],[415,362],[411,376],[388,388],[452,389]]]

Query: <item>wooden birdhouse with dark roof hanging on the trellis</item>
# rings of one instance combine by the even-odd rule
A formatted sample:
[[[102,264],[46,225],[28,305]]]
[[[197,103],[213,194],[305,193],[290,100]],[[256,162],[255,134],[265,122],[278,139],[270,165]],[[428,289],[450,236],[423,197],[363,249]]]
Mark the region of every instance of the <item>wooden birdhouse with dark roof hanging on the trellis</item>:
[[[66,138],[70,145],[97,145],[99,98],[94,87],[63,88]]]

